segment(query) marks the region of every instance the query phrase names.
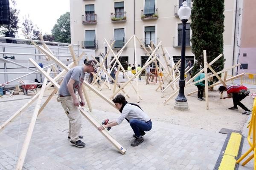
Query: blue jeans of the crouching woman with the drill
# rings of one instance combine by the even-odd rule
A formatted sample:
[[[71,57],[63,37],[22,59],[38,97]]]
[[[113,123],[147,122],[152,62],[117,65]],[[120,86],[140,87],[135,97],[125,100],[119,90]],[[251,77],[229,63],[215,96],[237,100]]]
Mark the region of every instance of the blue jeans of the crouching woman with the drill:
[[[152,122],[151,120],[145,122],[145,121],[140,121],[138,119],[131,119],[130,120],[130,126],[132,130],[134,131],[134,134],[137,137],[140,137],[141,133],[140,131],[149,131],[152,128]]]

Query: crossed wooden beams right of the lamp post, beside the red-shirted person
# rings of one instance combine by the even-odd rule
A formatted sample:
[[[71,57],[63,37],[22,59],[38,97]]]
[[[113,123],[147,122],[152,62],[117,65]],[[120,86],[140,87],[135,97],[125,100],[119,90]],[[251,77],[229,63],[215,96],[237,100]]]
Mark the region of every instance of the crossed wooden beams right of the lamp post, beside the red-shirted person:
[[[239,66],[240,63],[239,63],[239,64],[236,64],[236,65],[234,65],[234,66],[231,66],[231,67],[228,68],[228,69],[224,69],[224,70],[222,70],[222,71],[220,71],[220,72],[215,72],[214,69],[212,69],[211,65],[212,65],[213,63],[215,63],[215,61],[217,61],[217,60],[218,60],[219,58],[221,58],[222,56],[223,56],[223,55],[220,54],[220,55],[218,55],[218,57],[216,57],[216,58],[215,58],[214,60],[212,60],[210,63],[207,63],[207,54],[206,54],[206,50],[204,50],[204,69],[200,70],[194,77],[192,77],[192,78],[185,84],[185,87],[188,87],[188,86],[192,86],[192,85],[194,85],[194,84],[196,84],[196,83],[198,83],[198,82],[204,81],[204,84],[205,84],[205,97],[206,97],[206,98],[205,98],[205,99],[206,99],[206,100],[205,100],[205,101],[206,101],[206,105],[205,105],[206,109],[209,109],[208,88],[211,88],[211,87],[213,87],[213,86],[217,86],[218,84],[223,84],[224,86],[226,86],[226,82],[227,82],[227,81],[230,81],[230,80],[239,78],[239,77],[241,77],[241,76],[244,75],[244,73],[241,73],[241,74],[236,75],[236,76],[234,76],[234,77],[232,77],[232,78],[227,78],[227,70],[232,69],[232,68],[234,68],[234,67],[236,67],[236,66]],[[216,77],[218,78],[219,82],[208,86],[207,68],[209,68],[209,69],[211,70],[211,72],[213,73],[213,75],[210,75],[209,78],[216,76]],[[195,81],[195,82],[191,83],[191,82],[192,82],[196,77],[198,77],[198,75],[200,75],[202,72],[204,72],[205,77],[204,77],[203,79],[201,79],[201,80],[198,80],[198,81]],[[225,72],[225,76],[224,76],[224,79],[222,80],[222,79],[218,76],[218,74],[221,74],[221,73],[223,73],[223,72]],[[191,84],[190,84],[190,83],[191,83]],[[171,98],[173,98],[173,97],[177,94],[177,92],[179,92],[179,89],[177,89],[169,98],[167,98],[166,101],[164,102],[164,104],[166,104]],[[189,93],[189,94],[187,94],[187,95],[191,95],[191,94],[193,94],[193,93],[195,93],[195,92],[198,92],[198,90],[196,90],[196,91],[194,91],[194,92],[191,92],[191,93]],[[163,96],[161,96],[161,97],[163,97]]]

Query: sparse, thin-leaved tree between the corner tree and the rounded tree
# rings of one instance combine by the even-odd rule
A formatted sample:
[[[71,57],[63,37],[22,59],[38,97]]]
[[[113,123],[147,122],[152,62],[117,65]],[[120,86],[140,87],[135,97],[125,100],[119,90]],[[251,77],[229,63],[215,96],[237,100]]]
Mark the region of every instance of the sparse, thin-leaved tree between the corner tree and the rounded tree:
[[[38,30],[38,27],[34,25],[32,20],[29,19],[29,17],[26,17],[25,20],[22,23],[24,32],[33,40],[40,40],[39,34],[40,31]]]

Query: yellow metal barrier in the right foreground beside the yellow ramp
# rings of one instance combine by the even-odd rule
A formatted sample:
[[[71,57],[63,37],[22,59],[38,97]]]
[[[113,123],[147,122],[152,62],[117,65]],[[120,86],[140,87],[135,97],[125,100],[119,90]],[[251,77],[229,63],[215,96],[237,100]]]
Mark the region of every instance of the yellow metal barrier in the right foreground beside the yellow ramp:
[[[251,135],[253,136],[253,141],[250,141]],[[249,155],[249,153],[251,151],[253,151],[253,154],[247,158],[244,163],[242,163],[242,166],[244,166],[245,164],[247,164],[252,158],[254,158],[254,170],[256,170],[256,98],[253,101],[253,111],[252,111],[252,117],[250,120],[250,126],[249,126],[249,133],[248,133],[248,137],[247,140],[250,144],[250,149],[247,150],[246,153],[244,153],[244,155],[241,156],[241,158],[239,158],[236,163],[239,164],[239,162],[241,162],[247,155]]]

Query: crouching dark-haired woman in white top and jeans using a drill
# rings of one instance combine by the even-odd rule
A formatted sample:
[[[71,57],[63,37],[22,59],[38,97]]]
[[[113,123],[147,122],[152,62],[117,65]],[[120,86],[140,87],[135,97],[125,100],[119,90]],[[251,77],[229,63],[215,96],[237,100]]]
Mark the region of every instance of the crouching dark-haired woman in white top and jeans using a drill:
[[[113,99],[113,102],[115,103],[116,108],[119,109],[119,112],[121,112],[120,117],[114,121],[109,121],[108,124],[102,125],[98,127],[98,129],[104,130],[106,127],[116,126],[126,119],[134,131],[133,136],[135,139],[131,142],[131,146],[138,146],[144,141],[142,136],[145,135],[145,131],[149,131],[152,128],[151,119],[140,106],[128,103],[123,95],[117,95]]]

